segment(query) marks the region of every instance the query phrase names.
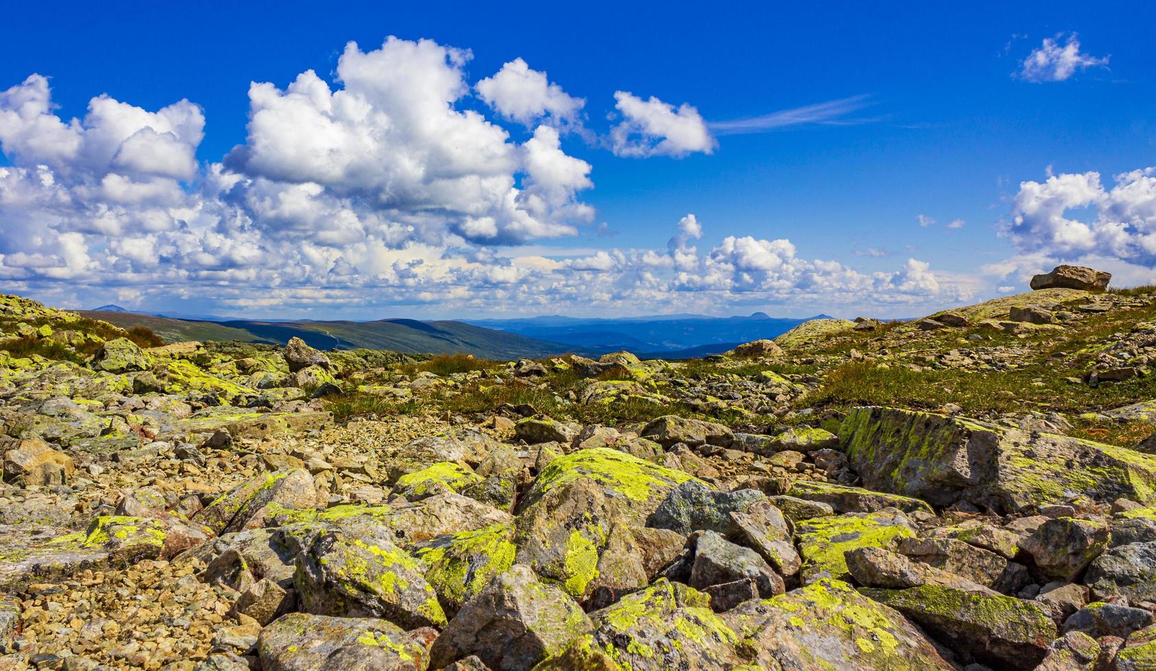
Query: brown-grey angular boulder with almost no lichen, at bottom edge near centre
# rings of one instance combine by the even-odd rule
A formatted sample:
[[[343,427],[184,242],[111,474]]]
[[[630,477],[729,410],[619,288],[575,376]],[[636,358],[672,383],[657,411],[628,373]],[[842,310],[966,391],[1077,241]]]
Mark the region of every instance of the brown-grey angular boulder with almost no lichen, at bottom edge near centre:
[[[440,669],[476,655],[491,669],[525,671],[588,634],[578,604],[526,566],[513,566],[466,603],[433,642],[430,665]]]

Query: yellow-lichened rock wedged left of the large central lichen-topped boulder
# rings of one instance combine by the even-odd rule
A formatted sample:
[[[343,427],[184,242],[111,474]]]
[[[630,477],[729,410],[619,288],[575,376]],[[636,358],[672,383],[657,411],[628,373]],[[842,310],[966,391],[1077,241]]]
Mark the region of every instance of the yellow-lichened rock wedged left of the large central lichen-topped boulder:
[[[447,617],[474,598],[495,576],[513,566],[512,524],[436,536],[413,547],[427,566],[425,581],[437,591]]]

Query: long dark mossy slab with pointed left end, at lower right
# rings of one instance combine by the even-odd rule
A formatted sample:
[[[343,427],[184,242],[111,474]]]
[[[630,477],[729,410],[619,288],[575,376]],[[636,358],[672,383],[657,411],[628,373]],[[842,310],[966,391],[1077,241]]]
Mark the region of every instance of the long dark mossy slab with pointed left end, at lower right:
[[[861,591],[907,616],[948,648],[990,666],[1031,669],[1057,635],[1055,622],[1042,606],[1010,596],[934,584]]]

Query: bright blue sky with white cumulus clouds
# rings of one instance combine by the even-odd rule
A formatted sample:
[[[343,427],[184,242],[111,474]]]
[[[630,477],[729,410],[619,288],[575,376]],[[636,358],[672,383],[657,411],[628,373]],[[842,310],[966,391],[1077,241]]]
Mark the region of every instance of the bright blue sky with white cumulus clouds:
[[[0,283],[72,307],[250,316],[911,316],[1059,261],[1156,277],[1156,8],[860,5],[10,8]],[[418,39],[450,50],[445,67],[420,69]],[[342,58],[350,73],[361,59],[361,84]],[[482,92],[516,59],[566,111],[514,119]],[[376,120],[290,114],[311,69]],[[454,117],[406,131],[443,75]],[[276,91],[265,107],[251,82]],[[123,105],[92,115],[102,94]],[[803,122],[725,124],[791,110]],[[667,121],[689,135],[664,143]],[[535,174],[541,127],[554,163]],[[327,133],[343,140],[310,150],[340,176],[298,150]],[[380,146],[361,156],[348,137]]]

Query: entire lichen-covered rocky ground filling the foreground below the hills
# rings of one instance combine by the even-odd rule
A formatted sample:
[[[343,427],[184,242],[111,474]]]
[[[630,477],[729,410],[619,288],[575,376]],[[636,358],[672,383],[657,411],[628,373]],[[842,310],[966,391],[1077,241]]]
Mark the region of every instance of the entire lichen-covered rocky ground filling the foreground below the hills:
[[[1042,277],[694,361],[0,296],[0,670],[1156,669],[1156,288]]]

